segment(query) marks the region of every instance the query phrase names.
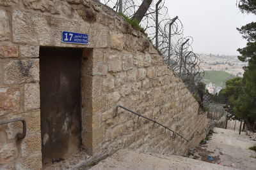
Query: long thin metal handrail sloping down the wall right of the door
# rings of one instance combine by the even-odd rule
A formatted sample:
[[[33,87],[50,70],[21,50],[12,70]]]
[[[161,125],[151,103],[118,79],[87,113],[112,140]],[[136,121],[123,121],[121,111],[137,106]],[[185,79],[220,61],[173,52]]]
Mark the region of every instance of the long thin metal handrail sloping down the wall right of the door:
[[[184,139],[187,143],[188,143],[189,141],[191,141],[193,138],[195,138],[195,134],[198,134],[199,136],[201,136],[202,134],[204,134],[204,132],[207,132],[207,129],[209,130],[209,128],[211,128],[211,125],[207,125],[207,128],[204,128],[201,133],[198,132],[198,131],[195,131],[195,132],[193,132],[193,135],[191,136],[191,138],[186,139],[186,138],[184,138],[182,135],[180,135],[178,132],[175,132],[175,131],[173,131],[172,129],[166,127],[165,125],[160,124],[159,122],[156,122],[156,120],[153,120],[153,119],[151,119],[151,118],[145,117],[145,116],[141,115],[140,113],[136,113],[135,111],[132,111],[132,110],[129,110],[128,108],[125,108],[124,106],[120,106],[120,105],[117,105],[117,106],[116,106],[116,108],[115,108],[115,116],[114,116],[114,117],[117,116],[118,108],[122,108],[122,109],[124,109],[124,110],[127,110],[127,111],[133,113],[134,115],[137,115],[137,116],[138,116],[138,120],[139,120],[140,117],[142,117],[142,118],[145,118],[145,119],[147,119],[147,120],[150,120],[151,122],[154,122],[154,125],[157,124],[157,125],[160,125],[161,127],[164,127],[164,134],[165,134],[166,129],[167,129],[167,130],[173,132],[173,136],[171,136],[172,139],[175,139],[175,138],[176,138],[176,135],[177,135],[177,136],[179,136],[181,139]],[[153,125],[153,126],[154,126],[154,125]]]

